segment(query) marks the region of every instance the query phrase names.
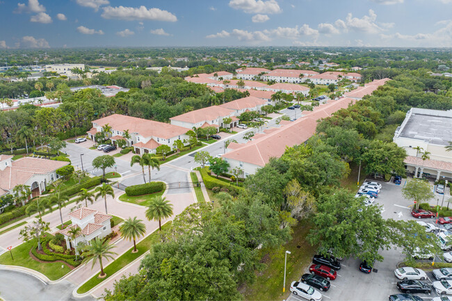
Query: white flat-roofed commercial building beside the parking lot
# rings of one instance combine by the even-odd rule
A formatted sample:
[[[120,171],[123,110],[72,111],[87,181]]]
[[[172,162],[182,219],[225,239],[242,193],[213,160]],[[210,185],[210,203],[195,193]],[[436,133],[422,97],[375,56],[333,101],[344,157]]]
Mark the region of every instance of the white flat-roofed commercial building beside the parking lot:
[[[411,108],[394,133],[394,143],[407,152],[405,168],[414,177],[452,179],[452,110]],[[430,158],[422,158],[423,154]]]

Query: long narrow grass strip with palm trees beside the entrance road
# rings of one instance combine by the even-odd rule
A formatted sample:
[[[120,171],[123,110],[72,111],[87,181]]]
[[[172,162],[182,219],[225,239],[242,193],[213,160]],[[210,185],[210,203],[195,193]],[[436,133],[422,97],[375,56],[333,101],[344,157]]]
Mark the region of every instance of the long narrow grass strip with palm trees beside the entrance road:
[[[171,225],[171,222],[167,222],[165,225],[162,226],[162,230],[168,229]],[[111,275],[115,274],[115,272],[118,272],[118,270],[121,270],[124,268],[124,266],[127,266],[129,263],[140,257],[141,255],[145,254],[154,243],[159,242],[159,234],[160,231],[154,231],[154,233],[147,236],[143,241],[140,241],[136,244],[136,248],[138,252],[132,253],[131,251],[134,250],[133,243],[131,243],[132,247],[122,254],[122,256],[118,257],[115,261],[111,262],[104,268],[104,272],[106,273],[106,277],[99,279],[98,276],[100,272],[98,272],[96,275],[91,277],[87,282],[85,282],[80,288],[77,290],[77,293],[86,293],[90,291],[92,288],[97,286],[98,284],[105,281],[105,279],[108,279],[108,277],[111,277]]]

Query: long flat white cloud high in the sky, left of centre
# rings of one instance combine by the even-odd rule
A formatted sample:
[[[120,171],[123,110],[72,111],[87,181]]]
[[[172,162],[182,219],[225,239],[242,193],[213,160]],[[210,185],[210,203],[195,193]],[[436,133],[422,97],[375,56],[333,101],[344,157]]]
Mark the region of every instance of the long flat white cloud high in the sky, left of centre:
[[[140,6],[139,8],[131,8],[124,6],[106,6],[102,8],[104,13],[102,17],[104,19],[122,19],[127,21],[135,20],[154,20],[154,21],[166,21],[176,22],[177,17],[167,10],[161,10],[160,8],[146,8]]]

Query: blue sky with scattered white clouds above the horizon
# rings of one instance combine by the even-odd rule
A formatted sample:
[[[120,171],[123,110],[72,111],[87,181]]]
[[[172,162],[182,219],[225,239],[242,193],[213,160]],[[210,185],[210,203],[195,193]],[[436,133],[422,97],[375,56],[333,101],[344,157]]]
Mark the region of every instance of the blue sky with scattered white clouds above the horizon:
[[[0,49],[452,47],[452,0],[1,0]]]

